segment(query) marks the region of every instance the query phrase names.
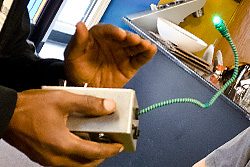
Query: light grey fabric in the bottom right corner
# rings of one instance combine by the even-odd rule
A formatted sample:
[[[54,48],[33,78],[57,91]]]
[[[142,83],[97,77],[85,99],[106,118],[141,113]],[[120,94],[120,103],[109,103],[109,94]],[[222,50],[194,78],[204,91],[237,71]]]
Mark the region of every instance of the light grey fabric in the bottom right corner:
[[[250,127],[206,157],[206,167],[250,166]]]

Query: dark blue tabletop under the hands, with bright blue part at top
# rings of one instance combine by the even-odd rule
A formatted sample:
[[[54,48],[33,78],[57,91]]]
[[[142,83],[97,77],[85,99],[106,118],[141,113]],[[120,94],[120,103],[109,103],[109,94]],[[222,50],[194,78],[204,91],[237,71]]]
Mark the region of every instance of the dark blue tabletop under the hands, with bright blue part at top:
[[[122,17],[149,9],[158,1],[112,0],[101,22],[130,28]],[[190,97],[208,102],[215,89],[191,76],[162,51],[144,65],[126,88],[136,91],[140,109],[172,98]],[[228,100],[219,97],[207,109],[172,104],[140,116],[135,152],[123,152],[102,167],[189,167],[249,126],[249,120]]]

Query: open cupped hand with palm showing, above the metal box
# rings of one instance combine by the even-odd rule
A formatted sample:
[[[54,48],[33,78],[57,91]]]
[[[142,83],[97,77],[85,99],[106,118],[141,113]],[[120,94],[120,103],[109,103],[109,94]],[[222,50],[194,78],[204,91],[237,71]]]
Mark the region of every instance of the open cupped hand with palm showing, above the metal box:
[[[67,80],[76,86],[122,87],[156,53],[148,40],[111,24],[98,24],[87,30],[76,25],[65,53]]]

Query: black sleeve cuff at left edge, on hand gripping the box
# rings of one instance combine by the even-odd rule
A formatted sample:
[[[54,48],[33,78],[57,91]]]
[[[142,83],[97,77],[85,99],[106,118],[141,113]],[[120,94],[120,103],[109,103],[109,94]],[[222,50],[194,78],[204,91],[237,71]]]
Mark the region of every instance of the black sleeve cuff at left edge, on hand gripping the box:
[[[16,106],[17,93],[0,86],[0,138],[3,137]]]

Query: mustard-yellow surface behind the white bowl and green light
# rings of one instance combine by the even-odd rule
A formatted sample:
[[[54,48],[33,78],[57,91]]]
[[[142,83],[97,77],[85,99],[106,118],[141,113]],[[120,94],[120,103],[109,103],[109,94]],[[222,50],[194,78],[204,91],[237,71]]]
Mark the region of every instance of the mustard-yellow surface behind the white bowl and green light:
[[[168,3],[173,0],[160,0],[159,4]],[[212,19],[219,15],[227,24],[231,21],[239,3],[235,0],[207,0],[204,5],[204,16],[195,18],[192,15],[185,18],[179,26],[202,39],[208,45],[220,41],[220,33],[214,28]],[[205,49],[195,53],[202,57]]]

